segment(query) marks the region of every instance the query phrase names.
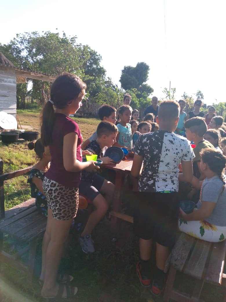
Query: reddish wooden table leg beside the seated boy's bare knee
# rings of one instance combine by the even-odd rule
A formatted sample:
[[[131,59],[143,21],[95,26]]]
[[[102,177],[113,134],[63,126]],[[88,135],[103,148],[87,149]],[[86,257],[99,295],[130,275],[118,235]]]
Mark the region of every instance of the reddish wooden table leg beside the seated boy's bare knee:
[[[124,173],[121,171],[116,171],[115,175],[115,192],[112,202],[112,210],[115,212],[121,211],[121,186],[123,182]],[[111,232],[115,235],[119,230],[119,219],[117,217],[111,216]]]

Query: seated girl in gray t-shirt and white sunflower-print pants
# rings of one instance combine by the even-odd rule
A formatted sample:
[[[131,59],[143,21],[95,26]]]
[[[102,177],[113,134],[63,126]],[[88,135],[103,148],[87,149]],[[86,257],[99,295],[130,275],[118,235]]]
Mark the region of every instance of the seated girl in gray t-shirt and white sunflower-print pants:
[[[200,189],[200,199],[191,214],[180,209],[179,229],[190,236],[219,242],[226,238],[226,157],[219,151],[206,148],[200,152],[200,169],[206,176],[203,181],[193,177],[191,184]],[[183,173],[179,174],[183,181]]]

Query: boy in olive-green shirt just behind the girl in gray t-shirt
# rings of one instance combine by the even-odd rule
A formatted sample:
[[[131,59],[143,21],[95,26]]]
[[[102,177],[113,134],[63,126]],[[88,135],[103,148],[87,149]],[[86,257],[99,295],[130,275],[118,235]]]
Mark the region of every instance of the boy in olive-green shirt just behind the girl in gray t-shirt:
[[[200,180],[204,179],[200,170],[200,151],[204,148],[213,148],[214,146],[204,140],[204,135],[207,131],[207,125],[202,117],[192,117],[184,123],[185,133],[187,139],[194,142],[196,147],[194,148],[195,158],[193,159],[193,174]]]

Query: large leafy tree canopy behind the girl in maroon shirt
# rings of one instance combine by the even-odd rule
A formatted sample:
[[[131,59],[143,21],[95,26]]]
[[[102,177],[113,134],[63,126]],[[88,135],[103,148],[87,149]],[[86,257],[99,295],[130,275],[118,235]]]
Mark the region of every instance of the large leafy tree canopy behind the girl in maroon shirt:
[[[95,96],[104,85],[105,69],[100,65],[101,56],[88,45],[77,43],[76,36],[67,37],[63,32],[37,31],[17,34],[8,44],[0,44],[0,51],[20,68],[58,75],[70,72],[80,76],[87,84],[87,92]],[[41,103],[48,99],[48,82],[32,80],[33,95]]]

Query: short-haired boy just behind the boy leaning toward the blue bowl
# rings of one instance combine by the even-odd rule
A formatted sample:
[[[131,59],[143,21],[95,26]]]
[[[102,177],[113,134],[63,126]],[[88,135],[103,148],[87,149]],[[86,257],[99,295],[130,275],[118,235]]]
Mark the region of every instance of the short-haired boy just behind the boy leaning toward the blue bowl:
[[[100,120],[110,122],[115,124],[117,118],[116,118],[116,109],[115,107],[109,106],[109,105],[103,105],[99,111],[98,111],[98,116]],[[86,146],[91,143],[93,140],[97,139],[97,133],[94,132],[91,137],[89,137],[87,140],[85,140],[82,143],[82,150],[86,149]]]

